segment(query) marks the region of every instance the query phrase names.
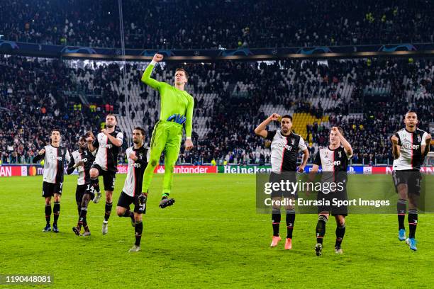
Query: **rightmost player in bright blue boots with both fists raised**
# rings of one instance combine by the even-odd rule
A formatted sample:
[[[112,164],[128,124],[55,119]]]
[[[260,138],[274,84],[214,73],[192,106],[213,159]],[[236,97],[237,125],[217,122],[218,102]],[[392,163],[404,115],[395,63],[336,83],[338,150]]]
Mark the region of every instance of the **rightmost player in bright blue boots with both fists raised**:
[[[398,211],[398,239],[406,241],[410,249],[416,251],[416,227],[418,225],[418,198],[421,194],[421,165],[430,151],[431,135],[416,128],[418,115],[408,111],[404,116],[406,128],[391,136],[394,168],[392,176],[399,200],[396,205]],[[406,202],[408,200],[408,227],[406,238],[404,220],[406,218]]]

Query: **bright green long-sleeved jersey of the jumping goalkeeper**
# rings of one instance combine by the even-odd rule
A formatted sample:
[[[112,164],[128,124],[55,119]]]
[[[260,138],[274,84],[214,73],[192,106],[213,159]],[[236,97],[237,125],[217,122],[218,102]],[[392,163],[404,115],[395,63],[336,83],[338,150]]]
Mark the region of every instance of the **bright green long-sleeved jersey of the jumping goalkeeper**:
[[[150,77],[154,65],[149,64],[143,73],[142,81],[152,89],[160,92],[160,120],[167,120],[174,114],[184,115],[185,135],[191,137],[193,128],[194,98],[187,91],[182,91],[165,82],[156,81]]]

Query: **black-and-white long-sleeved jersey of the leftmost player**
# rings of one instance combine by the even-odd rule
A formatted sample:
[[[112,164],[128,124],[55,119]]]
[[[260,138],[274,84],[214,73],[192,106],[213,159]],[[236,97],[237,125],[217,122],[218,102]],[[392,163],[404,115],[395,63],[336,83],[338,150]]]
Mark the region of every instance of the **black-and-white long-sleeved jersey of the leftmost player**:
[[[33,162],[38,162],[44,159],[44,176],[43,179],[46,183],[63,183],[63,171],[65,161],[69,162],[71,157],[66,147],[53,147],[46,145],[45,152],[38,154],[33,159]]]

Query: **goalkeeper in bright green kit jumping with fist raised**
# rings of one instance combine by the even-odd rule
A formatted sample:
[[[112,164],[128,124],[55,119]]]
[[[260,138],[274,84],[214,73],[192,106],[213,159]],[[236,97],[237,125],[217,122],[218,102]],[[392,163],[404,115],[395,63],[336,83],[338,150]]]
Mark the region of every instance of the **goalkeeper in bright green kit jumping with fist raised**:
[[[186,134],[184,147],[187,150],[193,148],[191,128],[193,127],[194,98],[187,91],[184,91],[184,86],[187,84],[189,77],[184,69],[176,69],[174,86],[150,78],[155,64],[162,61],[162,59],[162,55],[154,55],[152,62],[146,67],[142,77],[142,81],[145,84],[160,92],[161,105],[160,120],[155,124],[154,131],[152,132],[150,159],[143,176],[143,193],[140,196],[140,203],[146,202],[155,166],[158,165],[161,153],[164,151],[165,176],[163,179],[160,208],[166,208],[174,204],[174,199],[169,198],[169,194],[172,189],[174,164],[177,162],[179,149],[181,148],[182,128],[184,124]]]

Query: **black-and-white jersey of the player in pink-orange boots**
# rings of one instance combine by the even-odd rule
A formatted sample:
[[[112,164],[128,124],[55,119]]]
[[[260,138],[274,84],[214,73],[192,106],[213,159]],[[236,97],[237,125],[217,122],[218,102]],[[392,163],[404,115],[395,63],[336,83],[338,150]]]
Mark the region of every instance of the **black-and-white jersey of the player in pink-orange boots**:
[[[281,130],[267,132],[267,140],[271,140],[271,163],[272,171],[296,171],[299,150],[307,149],[303,137],[291,132],[282,135]]]

